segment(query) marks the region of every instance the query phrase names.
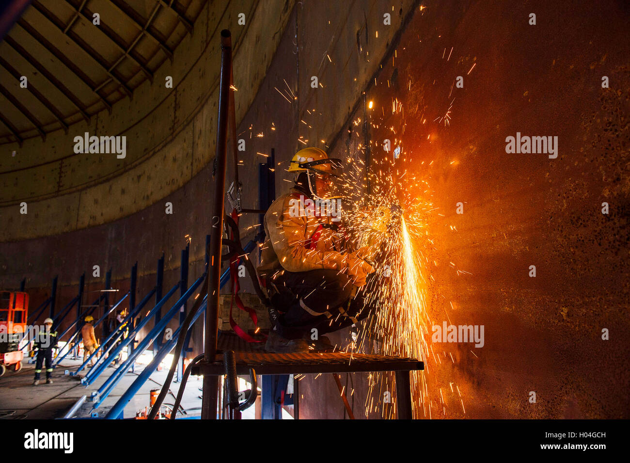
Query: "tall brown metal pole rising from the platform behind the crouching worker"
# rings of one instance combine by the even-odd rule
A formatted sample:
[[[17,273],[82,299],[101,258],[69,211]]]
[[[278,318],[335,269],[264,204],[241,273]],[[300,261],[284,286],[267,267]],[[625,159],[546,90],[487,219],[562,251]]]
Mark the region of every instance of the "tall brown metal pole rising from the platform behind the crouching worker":
[[[205,362],[214,362],[217,353],[219,326],[219,280],[221,278],[221,242],[223,237],[224,191],[226,189],[227,112],[232,69],[232,38],[230,31],[221,31],[221,79],[219,86],[219,117],[217,122],[217,152],[215,154],[214,195],[210,210],[210,266],[205,317]],[[202,420],[215,420],[219,378],[203,377]]]

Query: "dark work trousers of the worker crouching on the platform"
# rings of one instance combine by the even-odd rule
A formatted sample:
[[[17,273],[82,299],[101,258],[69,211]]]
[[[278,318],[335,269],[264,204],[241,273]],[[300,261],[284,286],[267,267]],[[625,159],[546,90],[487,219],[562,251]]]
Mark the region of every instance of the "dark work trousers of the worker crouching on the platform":
[[[313,328],[318,336],[332,333],[357,323],[370,312],[361,291],[350,299],[352,283],[337,270],[285,271],[271,282],[278,291],[272,296],[272,304],[284,312],[278,326],[284,338],[310,337]]]

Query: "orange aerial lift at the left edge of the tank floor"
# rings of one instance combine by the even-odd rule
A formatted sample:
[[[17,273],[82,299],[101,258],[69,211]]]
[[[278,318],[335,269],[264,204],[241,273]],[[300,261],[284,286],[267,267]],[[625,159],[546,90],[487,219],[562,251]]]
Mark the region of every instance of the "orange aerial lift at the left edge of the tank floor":
[[[28,294],[18,291],[0,291],[0,376],[7,367],[14,372],[22,369],[24,353],[20,341],[26,333]]]

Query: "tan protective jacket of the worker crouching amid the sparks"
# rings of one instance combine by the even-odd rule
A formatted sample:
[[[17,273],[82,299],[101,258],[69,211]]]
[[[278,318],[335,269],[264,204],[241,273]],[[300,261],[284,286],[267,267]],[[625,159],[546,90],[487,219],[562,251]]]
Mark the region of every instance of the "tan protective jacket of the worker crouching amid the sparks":
[[[329,215],[313,212],[296,214],[299,202],[309,200],[297,188],[279,197],[265,214],[266,240],[261,263],[256,269],[264,281],[278,270],[307,272],[347,268],[347,254],[343,253],[343,239],[335,229],[339,221]]]

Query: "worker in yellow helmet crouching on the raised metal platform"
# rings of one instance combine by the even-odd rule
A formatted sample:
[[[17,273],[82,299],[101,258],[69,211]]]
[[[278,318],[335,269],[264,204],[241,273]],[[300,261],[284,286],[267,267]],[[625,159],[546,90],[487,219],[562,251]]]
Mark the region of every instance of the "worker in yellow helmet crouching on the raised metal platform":
[[[301,149],[289,166],[296,174],[293,188],[265,214],[267,238],[257,271],[276,311],[268,352],[329,350],[323,334],[368,315],[355,293],[373,269],[364,249],[350,251],[340,233],[335,180],[341,167],[319,148]]]

